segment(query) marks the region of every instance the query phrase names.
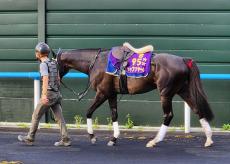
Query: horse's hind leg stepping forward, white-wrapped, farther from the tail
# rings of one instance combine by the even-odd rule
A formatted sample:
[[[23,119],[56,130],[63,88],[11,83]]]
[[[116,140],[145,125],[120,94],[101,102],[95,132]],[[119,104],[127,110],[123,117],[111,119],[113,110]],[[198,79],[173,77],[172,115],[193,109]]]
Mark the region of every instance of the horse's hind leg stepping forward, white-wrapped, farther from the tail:
[[[153,147],[155,146],[158,142],[163,141],[168,126],[173,118],[173,110],[172,110],[172,97],[165,97],[165,96],[161,96],[161,103],[162,103],[162,108],[164,111],[164,121],[163,124],[160,127],[160,130],[158,131],[156,137],[149,141],[146,144],[146,147]]]

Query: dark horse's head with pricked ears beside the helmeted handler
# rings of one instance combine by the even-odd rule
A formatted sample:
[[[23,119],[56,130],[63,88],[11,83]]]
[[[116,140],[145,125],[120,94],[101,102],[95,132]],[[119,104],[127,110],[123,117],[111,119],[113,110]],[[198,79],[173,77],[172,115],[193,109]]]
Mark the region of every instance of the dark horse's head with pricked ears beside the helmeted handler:
[[[61,60],[61,55],[62,55],[62,50],[59,48],[58,52],[55,53],[52,50],[52,54],[53,54],[53,59],[57,61],[58,63],[58,71],[59,71],[59,76],[62,79],[70,70],[69,66],[67,64],[65,64],[62,60]]]

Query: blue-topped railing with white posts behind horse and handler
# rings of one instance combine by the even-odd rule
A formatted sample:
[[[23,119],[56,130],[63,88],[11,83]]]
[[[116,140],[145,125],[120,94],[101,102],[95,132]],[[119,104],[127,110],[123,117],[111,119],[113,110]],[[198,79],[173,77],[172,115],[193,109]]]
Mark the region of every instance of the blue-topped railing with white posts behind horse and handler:
[[[87,78],[84,73],[68,73],[64,78]],[[201,79],[230,80],[230,74],[201,74]],[[40,99],[40,74],[38,72],[0,72],[0,78],[30,78],[34,80],[34,108]],[[184,103],[184,127],[185,133],[191,131],[191,109]]]

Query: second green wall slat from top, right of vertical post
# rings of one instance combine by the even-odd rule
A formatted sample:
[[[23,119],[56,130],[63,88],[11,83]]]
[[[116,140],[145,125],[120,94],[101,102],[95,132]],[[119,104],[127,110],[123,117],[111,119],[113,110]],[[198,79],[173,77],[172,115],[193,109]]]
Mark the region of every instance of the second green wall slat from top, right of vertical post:
[[[74,11],[47,13],[48,24],[212,24],[229,25],[229,12]]]

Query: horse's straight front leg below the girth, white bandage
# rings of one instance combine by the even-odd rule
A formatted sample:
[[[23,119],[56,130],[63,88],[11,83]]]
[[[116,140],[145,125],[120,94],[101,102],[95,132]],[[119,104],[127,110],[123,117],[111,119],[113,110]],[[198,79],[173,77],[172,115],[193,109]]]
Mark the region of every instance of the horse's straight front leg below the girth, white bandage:
[[[111,115],[112,115],[112,121],[113,121],[113,137],[111,138],[111,140],[108,142],[108,146],[114,146],[117,142],[117,139],[120,135],[120,130],[119,130],[119,126],[118,126],[118,114],[117,114],[117,94],[111,96],[110,98],[108,98],[109,100],[109,107],[111,110]]]

